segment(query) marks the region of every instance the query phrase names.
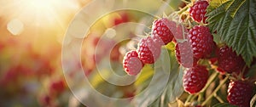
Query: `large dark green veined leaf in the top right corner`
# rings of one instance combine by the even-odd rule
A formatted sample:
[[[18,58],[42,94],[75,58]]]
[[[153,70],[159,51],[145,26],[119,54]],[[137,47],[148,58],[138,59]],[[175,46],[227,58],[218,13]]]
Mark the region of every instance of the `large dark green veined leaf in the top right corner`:
[[[219,3],[218,3],[219,2]],[[256,57],[256,1],[214,1],[207,8],[211,31],[250,65]]]

